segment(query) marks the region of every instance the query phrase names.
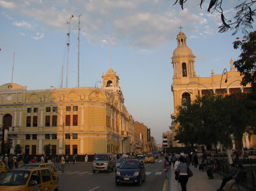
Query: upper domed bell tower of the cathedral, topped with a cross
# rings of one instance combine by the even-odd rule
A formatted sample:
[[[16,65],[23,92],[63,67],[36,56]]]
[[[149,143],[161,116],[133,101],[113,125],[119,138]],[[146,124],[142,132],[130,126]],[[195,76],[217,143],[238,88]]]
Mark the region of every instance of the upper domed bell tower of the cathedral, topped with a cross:
[[[173,51],[173,56],[171,57],[174,69],[173,85],[198,81],[194,67],[196,56],[193,55],[191,49],[187,46],[187,37],[181,32],[182,27],[180,26],[179,28],[180,32],[176,38],[178,46]]]

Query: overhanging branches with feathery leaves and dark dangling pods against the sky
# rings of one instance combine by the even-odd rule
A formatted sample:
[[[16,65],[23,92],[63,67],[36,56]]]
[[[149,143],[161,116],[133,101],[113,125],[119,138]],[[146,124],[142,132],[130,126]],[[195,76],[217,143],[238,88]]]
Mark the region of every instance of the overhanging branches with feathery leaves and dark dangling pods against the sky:
[[[181,8],[183,9],[183,4],[188,0],[180,0]],[[178,2],[173,4],[175,5]],[[202,4],[205,0],[198,1],[200,2],[200,8],[202,8]],[[238,5],[234,7],[237,10],[236,16],[234,16],[235,21],[227,21],[223,14],[223,0],[211,0],[209,3],[209,7],[207,9],[208,12],[219,12],[221,14],[222,26],[219,27],[219,32],[227,32],[229,29],[234,30],[235,32],[232,35],[235,35],[238,31],[242,30],[242,34],[248,34],[247,29],[253,28],[252,22],[253,18],[255,18],[255,10],[252,10],[252,7],[256,1],[254,0],[245,0],[244,2],[239,2]]]

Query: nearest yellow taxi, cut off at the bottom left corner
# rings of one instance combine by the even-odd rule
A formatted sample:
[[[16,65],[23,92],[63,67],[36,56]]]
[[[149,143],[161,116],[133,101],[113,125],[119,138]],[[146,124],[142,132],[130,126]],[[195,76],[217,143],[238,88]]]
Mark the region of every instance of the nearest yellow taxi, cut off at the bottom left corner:
[[[1,191],[59,191],[58,180],[49,168],[20,168],[7,170],[0,175]]]

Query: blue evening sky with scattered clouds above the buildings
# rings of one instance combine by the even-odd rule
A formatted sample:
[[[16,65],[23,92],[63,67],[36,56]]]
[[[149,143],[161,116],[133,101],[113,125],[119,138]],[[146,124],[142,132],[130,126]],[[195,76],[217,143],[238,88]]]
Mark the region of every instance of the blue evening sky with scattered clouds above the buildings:
[[[171,57],[179,27],[196,56],[197,76],[230,71],[229,61],[241,53],[232,42],[244,35],[218,33],[220,13],[207,12],[210,0],[202,9],[200,2],[186,1],[182,10],[179,3],[172,5],[175,0],[0,0],[0,85],[13,80],[27,90],[60,88],[63,66],[65,88],[70,22],[67,87],[77,87],[81,15],[79,87],[95,87],[111,67],[119,75],[129,114],[162,144],[174,113]],[[237,4],[223,2],[227,20],[234,20]]]

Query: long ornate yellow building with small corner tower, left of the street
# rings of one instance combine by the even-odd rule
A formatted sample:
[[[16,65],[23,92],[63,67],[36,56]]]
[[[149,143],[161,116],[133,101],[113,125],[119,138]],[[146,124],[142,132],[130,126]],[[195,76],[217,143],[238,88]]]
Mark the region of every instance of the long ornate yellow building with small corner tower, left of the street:
[[[7,129],[11,144],[4,152],[13,153],[20,144],[26,154],[43,154],[49,143],[52,154],[135,152],[134,119],[124,106],[119,76],[109,69],[102,84],[45,90],[0,86],[0,133]]]

